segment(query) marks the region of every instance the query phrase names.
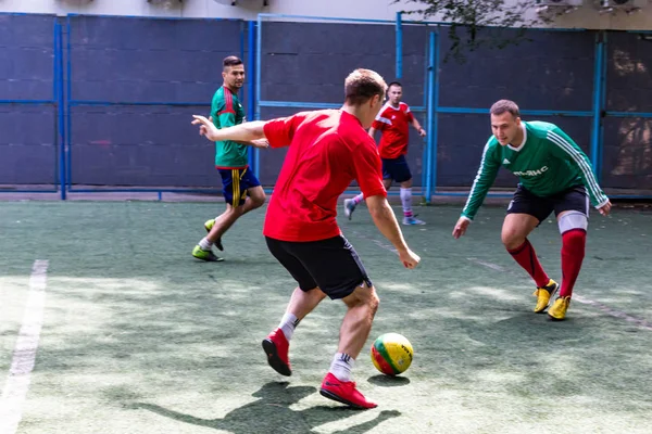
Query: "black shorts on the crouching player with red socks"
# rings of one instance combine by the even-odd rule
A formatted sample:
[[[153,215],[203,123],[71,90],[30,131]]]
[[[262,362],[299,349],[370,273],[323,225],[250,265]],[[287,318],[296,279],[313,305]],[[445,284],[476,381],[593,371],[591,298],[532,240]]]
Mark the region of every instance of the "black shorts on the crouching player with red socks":
[[[557,216],[565,210],[577,210],[589,217],[589,196],[584,186],[572,187],[552,196],[538,196],[518,184],[507,214],[529,214],[539,222],[554,212]]]

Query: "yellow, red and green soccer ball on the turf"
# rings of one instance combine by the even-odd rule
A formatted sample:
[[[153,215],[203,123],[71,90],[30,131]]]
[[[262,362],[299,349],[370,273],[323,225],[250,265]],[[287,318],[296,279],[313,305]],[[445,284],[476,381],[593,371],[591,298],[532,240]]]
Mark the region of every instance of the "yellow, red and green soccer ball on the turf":
[[[412,344],[399,333],[381,334],[372,345],[372,361],[386,375],[405,372],[412,363],[413,355]]]

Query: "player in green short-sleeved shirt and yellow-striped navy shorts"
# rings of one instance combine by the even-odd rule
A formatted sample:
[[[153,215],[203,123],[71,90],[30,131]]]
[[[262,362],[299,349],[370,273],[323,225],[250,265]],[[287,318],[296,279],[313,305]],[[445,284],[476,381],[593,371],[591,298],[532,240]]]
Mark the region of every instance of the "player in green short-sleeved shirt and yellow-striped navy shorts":
[[[224,85],[213,95],[211,118],[218,129],[239,125],[244,122],[244,110],[238,100],[238,90],[244,84],[244,65],[239,58],[229,55],[224,59],[222,77]],[[204,224],[209,234],[192,250],[192,256],[208,261],[223,260],[213,254],[213,244],[222,246],[222,235],[243,214],[265,203],[265,192],[258,178],[248,166],[248,145],[267,148],[266,141],[235,142],[230,140],[215,142],[215,168],[222,176],[222,188],[226,210]]]

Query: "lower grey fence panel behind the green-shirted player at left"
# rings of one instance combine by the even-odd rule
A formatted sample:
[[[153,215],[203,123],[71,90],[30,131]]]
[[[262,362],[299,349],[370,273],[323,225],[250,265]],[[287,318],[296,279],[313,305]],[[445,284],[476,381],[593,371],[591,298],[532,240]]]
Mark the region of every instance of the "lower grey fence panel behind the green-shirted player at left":
[[[206,107],[75,107],[72,181],[83,184],[217,187],[214,144],[191,114]]]

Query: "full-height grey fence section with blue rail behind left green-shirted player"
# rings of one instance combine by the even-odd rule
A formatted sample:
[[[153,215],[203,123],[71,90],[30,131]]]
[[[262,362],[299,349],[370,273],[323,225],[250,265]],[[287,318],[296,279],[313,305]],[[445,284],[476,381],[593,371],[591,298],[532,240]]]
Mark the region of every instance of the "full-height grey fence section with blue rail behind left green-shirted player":
[[[175,116],[176,120],[179,116],[189,118],[190,113],[206,112],[210,97],[222,81],[222,59],[234,51],[244,56],[246,27],[242,21],[173,18],[172,24],[170,22],[170,18],[66,17],[65,162],[68,192],[156,192],[161,196],[162,192],[216,191],[216,182],[212,179],[214,169],[211,164],[204,164],[210,152],[201,150],[206,149],[205,142],[179,149],[179,144],[188,140],[190,127],[186,130],[177,127],[177,130],[165,132],[152,129],[150,138],[133,142],[130,149],[127,148],[130,142],[124,140],[116,144],[113,140],[96,140],[104,151],[102,146],[88,145],[90,139],[97,137],[93,136],[93,126],[99,126],[92,120],[102,117],[97,111],[105,111],[104,124],[121,117],[127,124],[115,127],[134,127],[133,133],[140,129],[134,118],[143,123],[159,120],[166,127],[168,123],[165,119],[170,116]],[[225,28],[220,33],[222,27]],[[131,42],[123,40],[125,35],[129,35]],[[215,40],[220,43],[211,43]],[[158,47],[156,43],[166,46]],[[170,50],[176,50],[180,59],[167,60]],[[104,64],[106,67],[103,67]],[[210,64],[211,68],[205,64]],[[197,72],[201,68],[205,69],[204,74]],[[185,75],[188,73],[201,77],[187,79]],[[146,78],[142,79],[141,75]],[[97,82],[103,86],[97,86]],[[244,93],[244,97],[252,93],[251,88]],[[192,100],[188,101],[188,97]],[[90,123],[85,125],[80,119]],[[181,125],[186,127],[188,124],[183,122]],[[161,152],[167,153],[171,161],[162,162],[158,156]],[[176,158],[183,154],[188,157]],[[79,163],[75,163],[75,155],[80,157]],[[104,156],[106,162],[103,162]],[[85,163],[90,163],[88,159],[95,163],[95,167],[83,169]],[[167,167],[164,169],[163,165]],[[116,181],[111,183],[120,183],[111,189],[96,188],[95,184],[102,184],[103,179],[109,178],[100,175],[112,170]],[[189,187],[166,187],[179,182],[184,170],[189,175],[184,180],[190,183]],[[91,187],[80,188],[79,184]]]

